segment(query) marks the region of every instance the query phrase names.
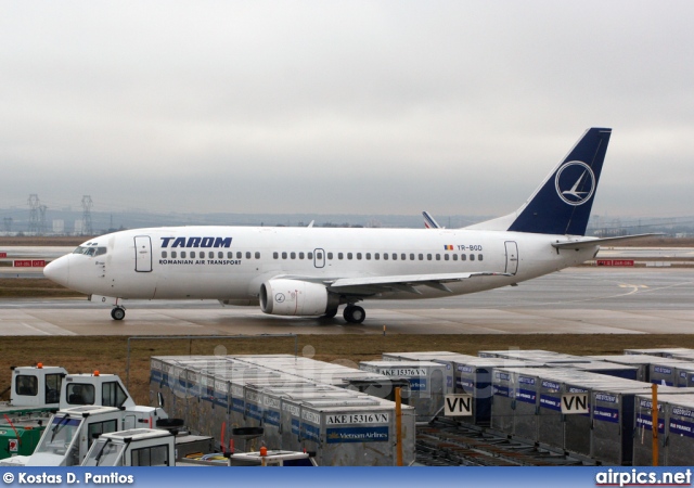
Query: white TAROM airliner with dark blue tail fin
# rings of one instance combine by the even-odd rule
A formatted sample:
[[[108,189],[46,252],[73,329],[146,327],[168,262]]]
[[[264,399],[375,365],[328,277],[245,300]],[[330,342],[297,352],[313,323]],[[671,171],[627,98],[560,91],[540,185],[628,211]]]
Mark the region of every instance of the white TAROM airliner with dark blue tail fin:
[[[586,228],[612,129],[590,128],[515,211],[462,229],[165,227],[90,239],[44,275],[112,306],[127,299],[217,299],[274,316],[362,323],[369,299],[454,296],[592,259]]]

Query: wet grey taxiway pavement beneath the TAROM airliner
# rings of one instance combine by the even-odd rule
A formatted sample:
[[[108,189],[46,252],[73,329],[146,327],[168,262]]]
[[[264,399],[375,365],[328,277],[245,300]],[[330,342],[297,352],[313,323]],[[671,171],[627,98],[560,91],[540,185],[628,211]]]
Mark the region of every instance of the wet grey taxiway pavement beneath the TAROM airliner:
[[[0,335],[643,334],[694,332],[693,269],[571,268],[473,295],[362,303],[367,321],[271,317],[217,301],[126,303],[124,321],[85,299],[0,300]]]

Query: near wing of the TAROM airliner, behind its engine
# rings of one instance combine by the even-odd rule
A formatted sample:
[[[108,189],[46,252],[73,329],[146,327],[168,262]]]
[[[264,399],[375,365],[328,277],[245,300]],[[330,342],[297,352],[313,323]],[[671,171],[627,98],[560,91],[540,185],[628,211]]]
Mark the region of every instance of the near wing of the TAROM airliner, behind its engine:
[[[492,271],[475,273],[434,273],[434,274],[402,274],[393,277],[361,277],[339,278],[324,281],[327,288],[335,293],[373,295],[381,292],[408,292],[415,295],[422,293],[414,286],[424,285],[452,293],[446,283],[463,281],[475,277],[511,277],[512,274]]]

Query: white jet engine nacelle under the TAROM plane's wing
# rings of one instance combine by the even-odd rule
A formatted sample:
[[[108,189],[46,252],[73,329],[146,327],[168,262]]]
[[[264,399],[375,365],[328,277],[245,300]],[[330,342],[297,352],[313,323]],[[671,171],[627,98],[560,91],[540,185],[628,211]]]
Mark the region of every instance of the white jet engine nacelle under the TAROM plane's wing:
[[[272,316],[322,316],[337,310],[338,300],[320,283],[278,279],[260,285],[260,309]]]

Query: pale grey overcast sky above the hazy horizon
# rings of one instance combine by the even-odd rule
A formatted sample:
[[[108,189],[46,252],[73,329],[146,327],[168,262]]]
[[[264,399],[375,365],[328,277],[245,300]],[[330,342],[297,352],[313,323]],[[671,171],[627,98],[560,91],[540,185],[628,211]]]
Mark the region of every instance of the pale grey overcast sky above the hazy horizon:
[[[0,207],[694,214],[692,1],[4,1]],[[50,215],[50,214],[49,214]]]

